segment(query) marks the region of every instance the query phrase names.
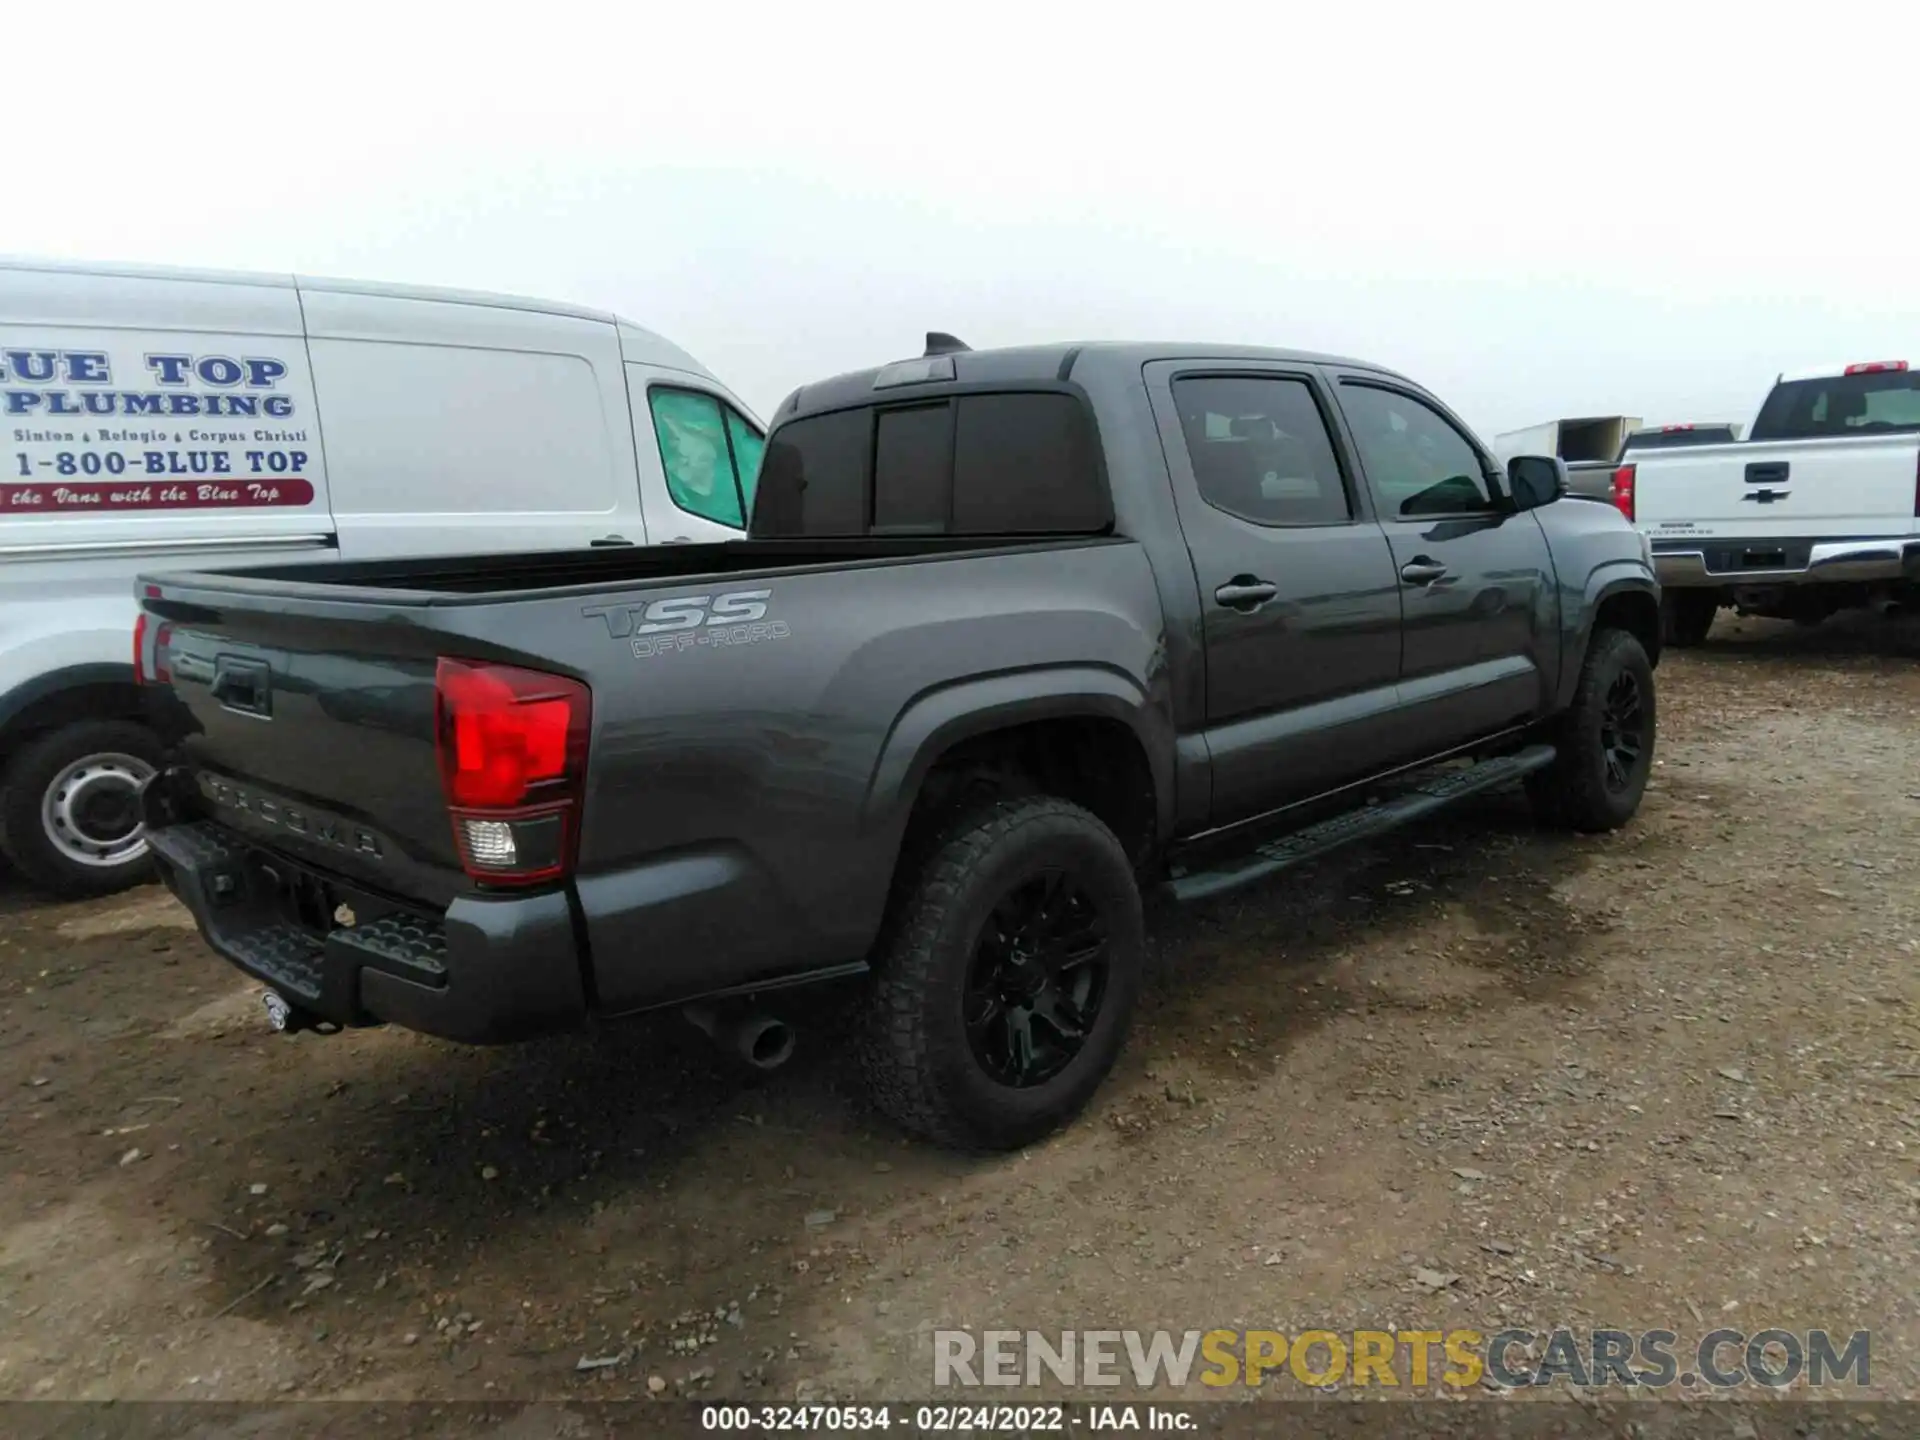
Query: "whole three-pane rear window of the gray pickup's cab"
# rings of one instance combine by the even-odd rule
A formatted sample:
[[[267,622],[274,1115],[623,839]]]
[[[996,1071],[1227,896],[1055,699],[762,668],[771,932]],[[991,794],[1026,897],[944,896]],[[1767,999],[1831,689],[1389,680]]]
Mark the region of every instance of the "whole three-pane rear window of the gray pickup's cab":
[[[753,534],[1098,534],[1094,444],[1085,407],[1052,392],[793,420],[768,442]]]

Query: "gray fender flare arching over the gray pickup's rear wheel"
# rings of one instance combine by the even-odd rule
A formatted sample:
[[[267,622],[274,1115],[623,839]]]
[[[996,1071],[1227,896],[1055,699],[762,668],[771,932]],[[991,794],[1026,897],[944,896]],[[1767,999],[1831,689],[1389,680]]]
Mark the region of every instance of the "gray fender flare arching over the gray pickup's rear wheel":
[[[860,804],[862,829],[906,828],[920,787],[962,741],[1035,720],[1117,720],[1139,741],[1154,781],[1154,829],[1173,831],[1173,726],[1131,676],[1094,664],[1062,664],[975,676],[922,691],[881,741]]]

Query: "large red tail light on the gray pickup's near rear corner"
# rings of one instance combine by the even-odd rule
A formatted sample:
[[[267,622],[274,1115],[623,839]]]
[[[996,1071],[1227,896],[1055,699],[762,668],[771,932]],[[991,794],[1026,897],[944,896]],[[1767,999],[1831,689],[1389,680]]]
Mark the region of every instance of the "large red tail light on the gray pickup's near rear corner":
[[[572,870],[593,695],[578,680],[442,659],[434,674],[440,780],[461,868],[490,885]]]

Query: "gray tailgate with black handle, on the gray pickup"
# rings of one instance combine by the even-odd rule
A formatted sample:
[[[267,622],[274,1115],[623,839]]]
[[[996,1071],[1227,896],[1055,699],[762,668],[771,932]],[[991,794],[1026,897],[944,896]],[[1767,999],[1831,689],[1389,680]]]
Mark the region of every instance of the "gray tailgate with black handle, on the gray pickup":
[[[399,897],[468,889],[434,755],[445,636],[236,595],[156,612],[171,724],[215,820]]]

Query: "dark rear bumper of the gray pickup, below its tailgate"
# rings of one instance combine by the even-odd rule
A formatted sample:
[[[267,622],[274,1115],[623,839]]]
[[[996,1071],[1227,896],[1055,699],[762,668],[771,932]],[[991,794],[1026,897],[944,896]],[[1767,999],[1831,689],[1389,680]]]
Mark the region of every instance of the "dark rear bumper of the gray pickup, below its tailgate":
[[[148,841],[207,945],[317,1020],[386,1021],[482,1044],[586,1020],[564,893],[461,897],[434,914],[323,876],[209,820],[169,824],[150,814]]]

